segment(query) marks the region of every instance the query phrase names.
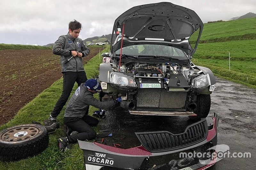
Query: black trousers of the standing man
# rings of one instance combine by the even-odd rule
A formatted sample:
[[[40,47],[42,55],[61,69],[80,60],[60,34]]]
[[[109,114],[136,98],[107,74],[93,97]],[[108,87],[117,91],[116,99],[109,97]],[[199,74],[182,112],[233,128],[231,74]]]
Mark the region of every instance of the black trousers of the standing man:
[[[73,72],[73,71],[67,71],[63,72],[63,89],[61,96],[57,103],[55,104],[55,107],[52,110],[52,117],[57,117],[60,114],[60,111],[66,104],[68,97],[74,87],[75,82],[78,86],[81,85],[81,83],[85,83],[87,81],[87,77],[84,71],[79,72]],[[88,113],[89,107],[87,109]]]

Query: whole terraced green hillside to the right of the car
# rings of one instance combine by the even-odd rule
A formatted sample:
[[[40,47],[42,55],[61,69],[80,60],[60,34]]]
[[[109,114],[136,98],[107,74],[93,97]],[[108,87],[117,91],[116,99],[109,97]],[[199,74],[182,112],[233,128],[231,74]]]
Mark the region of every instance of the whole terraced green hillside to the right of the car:
[[[195,40],[192,35],[189,42]],[[256,88],[255,44],[255,17],[204,24],[192,62],[210,68],[215,75]]]

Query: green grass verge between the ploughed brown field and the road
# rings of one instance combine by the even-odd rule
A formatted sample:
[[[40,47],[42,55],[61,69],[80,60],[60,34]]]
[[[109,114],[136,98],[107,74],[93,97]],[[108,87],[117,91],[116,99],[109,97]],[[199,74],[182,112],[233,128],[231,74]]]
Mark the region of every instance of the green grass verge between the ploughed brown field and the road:
[[[109,47],[102,52],[108,52]],[[102,62],[102,57],[99,58],[99,54],[93,57],[90,61],[84,65],[87,78],[95,78],[99,74],[99,64]],[[0,130],[6,129],[15,125],[30,124],[32,121],[43,122],[44,119],[49,117],[56,101],[60,97],[62,91],[62,81],[54,82],[51,87],[45,89],[34,100],[29,102],[25,107],[20,109],[18,114],[8,123],[2,125]],[[77,88],[74,86],[72,93]],[[65,108],[65,107],[64,107]],[[0,168],[6,170],[12,169],[84,169],[84,157],[82,150],[77,144],[73,145],[72,149],[67,152],[60,152],[57,146],[57,138],[64,136],[62,130],[63,127],[63,115],[62,109],[58,116],[61,128],[56,132],[50,134],[50,142],[48,148],[41,154],[16,162],[0,162]],[[90,107],[89,113],[92,114],[97,108]],[[95,128],[97,131],[98,129]]]

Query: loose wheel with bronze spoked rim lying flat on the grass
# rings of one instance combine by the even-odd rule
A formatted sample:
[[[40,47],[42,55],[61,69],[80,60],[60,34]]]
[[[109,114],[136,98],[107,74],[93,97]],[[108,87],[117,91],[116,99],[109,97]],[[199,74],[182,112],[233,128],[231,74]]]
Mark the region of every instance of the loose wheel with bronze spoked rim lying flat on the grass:
[[[43,152],[49,144],[46,128],[24,124],[0,131],[0,160],[16,161]]]

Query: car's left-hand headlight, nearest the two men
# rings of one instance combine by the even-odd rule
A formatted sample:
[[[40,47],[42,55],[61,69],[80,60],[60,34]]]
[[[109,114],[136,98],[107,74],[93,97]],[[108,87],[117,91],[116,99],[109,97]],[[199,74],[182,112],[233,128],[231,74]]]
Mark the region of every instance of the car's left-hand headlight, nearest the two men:
[[[112,85],[117,85],[121,87],[126,87],[126,88],[136,88],[136,82],[134,78],[131,78],[130,76],[126,76],[121,73],[116,73],[116,72],[110,72],[109,73],[109,82]]]

